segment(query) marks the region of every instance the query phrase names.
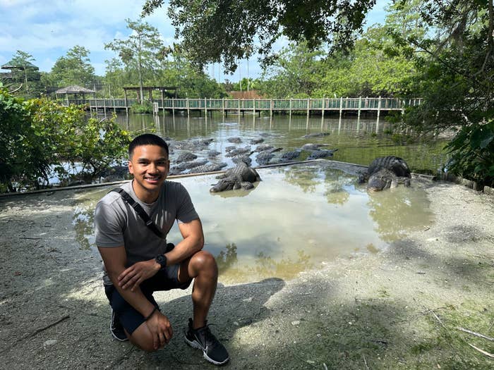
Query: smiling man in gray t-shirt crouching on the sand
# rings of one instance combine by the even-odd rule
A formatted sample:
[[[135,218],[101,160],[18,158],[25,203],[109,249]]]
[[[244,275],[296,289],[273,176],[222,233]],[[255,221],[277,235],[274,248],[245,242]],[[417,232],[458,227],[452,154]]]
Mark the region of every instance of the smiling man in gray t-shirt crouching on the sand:
[[[167,181],[169,149],[161,137],[135,137],[128,148],[133,180],[109,192],[95,209],[96,245],[104,263],[104,288],[112,307],[110,331],[118,340],[145,351],[173,337],[171,323],[153,297],[157,290],[186,289],[193,283],[193,318],[185,341],[205,359],[224,364],[229,355],[207,326],[218,269],[203,251],[203,226],[191,197],[180,183]],[[183,240],[167,245],[177,220]]]

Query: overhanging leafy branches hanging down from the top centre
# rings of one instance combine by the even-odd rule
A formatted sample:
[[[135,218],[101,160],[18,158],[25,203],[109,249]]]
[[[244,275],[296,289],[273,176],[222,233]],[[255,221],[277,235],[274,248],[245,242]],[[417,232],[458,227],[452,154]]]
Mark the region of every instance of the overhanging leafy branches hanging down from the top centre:
[[[147,0],[143,16],[165,3]],[[310,49],[330,44],[348,49],[361,31],[375,0],[171,0],[168,15],[183,50],[198,66],[223,61],[234,72],[236,61],[251,51],[270,63],[273,44],[281,37],[306,41]]]

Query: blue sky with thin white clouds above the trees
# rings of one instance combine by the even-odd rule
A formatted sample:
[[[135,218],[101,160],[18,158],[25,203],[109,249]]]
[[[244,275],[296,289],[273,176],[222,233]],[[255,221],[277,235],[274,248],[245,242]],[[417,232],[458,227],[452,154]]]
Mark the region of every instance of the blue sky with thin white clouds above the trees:
[[[90,61],[97,75],[104,75],[106,59],[114,56],[104,50],[104,44],[129,35],[126,18],[136,20],[145,0],[0,0],[0,65],[10,61],[17,50],[31,54],[42,71],[52,69],[56,59],[68,49],[79,45],[90,50]],[[384,6],[390,0],[378,0],[370,12],[368,25],[384,20]],[[165,44],[174,42],[174,28],[167,18],[166,8],[158,9],[145,18],[157,27]],[[254,60],[248,64],[251,77],[260,75]],[[233,76],[224,76],[219,66],[207,72],[219,80],[246,77],[247,62]]]

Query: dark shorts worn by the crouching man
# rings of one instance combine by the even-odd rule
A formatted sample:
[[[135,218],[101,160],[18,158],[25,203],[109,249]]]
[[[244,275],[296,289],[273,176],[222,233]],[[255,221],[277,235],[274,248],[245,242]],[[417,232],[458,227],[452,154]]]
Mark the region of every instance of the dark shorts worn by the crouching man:
[[[144,280],[140,284],[140,290],[143,292],[148,301],[150,301],[155,307],[159,308],[152,296],[153,292],[159,290],[171,290],[171,289],[187,289],[191,285],[192,279],[185,283],[179,282],[179,264],[167,266],[164,270],[159,270],[155,276]],[[144,316],[134,309],[131,304],[128,304],[126,300],[116,290],[114,285],[104,285],[104,292],[107,294],[110,306],[114,312],[119,316],[120,322],[123,328],[129,334],[132,334],[144,320]]]

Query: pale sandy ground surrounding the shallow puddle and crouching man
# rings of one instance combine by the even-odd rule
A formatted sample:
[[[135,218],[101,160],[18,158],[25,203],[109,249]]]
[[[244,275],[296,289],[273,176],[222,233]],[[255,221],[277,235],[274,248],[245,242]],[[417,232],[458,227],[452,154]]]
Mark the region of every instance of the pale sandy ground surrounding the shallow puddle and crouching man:
[[[294,280],[219,285],[212,330],[230,369],[492,369],[494,197],[417,180],[435,221],[386,252]],[[1,369],[203,369],[183,343],[190,290],[157,294],[174,324],[147,354],[112,340],[100,259],[80,249],[83,191],[0,198]],[[185,315],[185,316],[184,316]]]

